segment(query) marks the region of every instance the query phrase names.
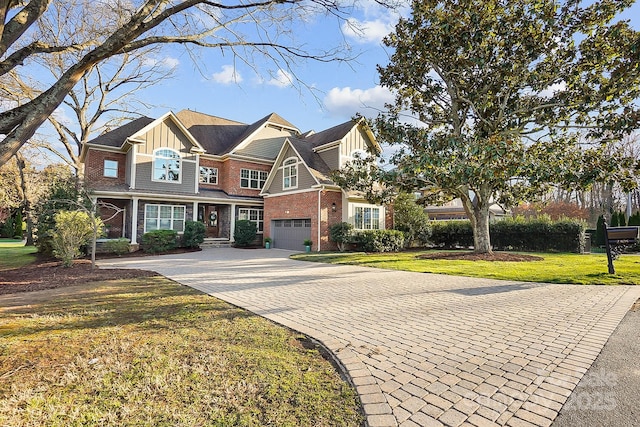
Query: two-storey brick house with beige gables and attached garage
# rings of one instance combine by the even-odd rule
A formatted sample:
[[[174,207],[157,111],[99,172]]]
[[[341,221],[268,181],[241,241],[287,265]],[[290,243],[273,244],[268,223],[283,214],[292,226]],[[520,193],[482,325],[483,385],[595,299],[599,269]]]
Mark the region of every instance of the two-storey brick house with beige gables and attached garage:
[[[363,122],[302,133],[273,113],[251,124],[195,111],[141,117],[89,141],[81,161],[109,238],[138,245],[157,229],[205,224],[208,241],[233,243],[235,222],[256,224],[273,247],[334,249],[329,227],[390,226],[384,206],[331,181],[355,153],[379,150]]]

